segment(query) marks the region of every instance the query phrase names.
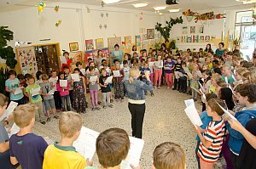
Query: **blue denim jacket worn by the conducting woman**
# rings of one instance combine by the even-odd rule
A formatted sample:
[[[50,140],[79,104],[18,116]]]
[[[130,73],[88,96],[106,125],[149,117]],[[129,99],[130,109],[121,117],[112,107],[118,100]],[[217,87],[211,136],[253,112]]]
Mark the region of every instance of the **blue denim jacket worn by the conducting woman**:
[[[143,100],[146,99],[144,90],[152,91],[152,82],[142,82],[137,79],[134,79],[132,83],[130,83],[128,80],[124,82],[125,89],[126,89],[126,97],[128,99],[134,99],[134,100]]]

